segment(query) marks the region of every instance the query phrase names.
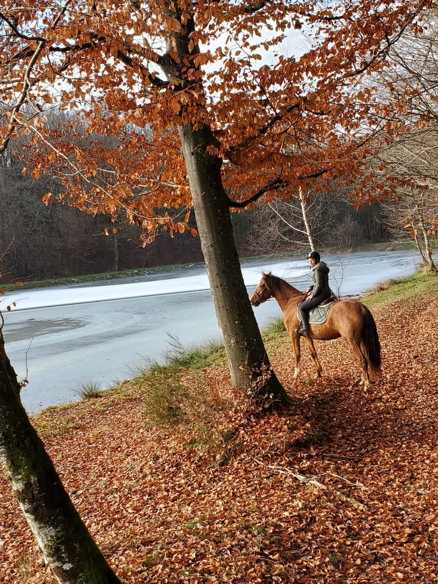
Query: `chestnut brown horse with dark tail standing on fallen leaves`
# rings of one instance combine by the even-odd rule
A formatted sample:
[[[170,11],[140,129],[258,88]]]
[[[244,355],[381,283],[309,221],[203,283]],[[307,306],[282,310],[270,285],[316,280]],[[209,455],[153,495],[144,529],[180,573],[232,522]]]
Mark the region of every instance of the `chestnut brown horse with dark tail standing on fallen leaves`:
[[[294,378],[300,375],[300,336],[295,329],[300,325],[297,317],[297,304],[306,296],[286,281],[262,272],[262,279],[251,296],[251,304],[258,306],[274,297],[283,311],[284,325],[289,332],[290,341],[295,353]],[[321,377],[321,363],[319,363],[313,339],[331,340],[342,337],[352,347],[354,355],[359,359],[362,369],[361,384],[365,389],[371,385],[370,377],[380,371],[380,342],[378,339],[376,322],[366,306],[357,300],[340,300],[329,310],[327,320],[323,324],[310,325],[312,338],[304,337],[310,354],[317,367],[315,377]]]

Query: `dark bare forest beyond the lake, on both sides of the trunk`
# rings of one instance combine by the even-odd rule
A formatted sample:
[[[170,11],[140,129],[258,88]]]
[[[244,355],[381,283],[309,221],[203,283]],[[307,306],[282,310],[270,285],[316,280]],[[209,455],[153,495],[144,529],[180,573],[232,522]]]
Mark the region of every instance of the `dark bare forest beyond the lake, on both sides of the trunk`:
[[[9,149],[0,158],[0,271],[5,280],[43,280],[66,276],[112,272],[178,263],[201,262],[198,237],[190,232],[157,234],[142,247],[141,228],[121,218],[113,224],[105,215],[88,215],[52,199],[42,202],[45,193],[63,187],[48,176],[39,180],[23,176],[25,164]],[[232,223],[242,256],[287,253],[308,247],[277,215],[288,221],[297,211],[296,201],[260,205],[249,213],[233,213]],[[325,249],[360,249],[371,242],[388,241],[380,223],[378,204],[357,212],[338,195],[318,197],[309,203],[315,244]],[[192,213],[193,215],[193,213]],[[300,224],[297,218],[297,225]],[[301,216],[302,222],[302,216]],[[196,227],[194,217],[190,224]]]

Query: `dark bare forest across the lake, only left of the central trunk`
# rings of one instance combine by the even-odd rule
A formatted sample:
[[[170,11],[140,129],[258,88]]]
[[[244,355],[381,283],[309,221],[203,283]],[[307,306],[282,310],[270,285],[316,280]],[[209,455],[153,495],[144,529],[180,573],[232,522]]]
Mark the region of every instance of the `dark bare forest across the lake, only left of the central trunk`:
[[[42,280],[136,267],[202,261],[199,238],[160,232],[143,247],[141,228],[126,220],[88,215],[51,200],[47,192],[63,187],[48,176],[35,180],[25,164],[6,150],[0,157],[0,272],[4,281]],[[190,218],[194,225],[194,219]],[[109,235],[105,235],[105,228]],[[113,228],[117,232],[113,232]]]

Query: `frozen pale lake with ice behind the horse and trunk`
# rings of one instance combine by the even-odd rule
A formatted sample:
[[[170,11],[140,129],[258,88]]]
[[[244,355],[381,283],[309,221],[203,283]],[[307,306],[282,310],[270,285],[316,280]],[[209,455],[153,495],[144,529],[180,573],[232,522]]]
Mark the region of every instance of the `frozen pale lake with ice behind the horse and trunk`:
[[[413,252],[361,252],[326,256],[331,287],[348,296],[380,281],[415,272]],[[310,282],[305,259],[245,262],[249,294],[260,272],[272,270],[304,290]],[[19,379],[29,384],[22,400],[30,413],[74,401],[81,381],[110,387],[132,376],[144,359],[159,360],[170,333],[183,345],[218,337],[220,331],[203,266],[138,278],[43,288],[2,297],[1,307],[16,301],[5,315],[6,351]],[[280,314],[276,301],[255,308],[263,328]],[[30,347],[29,347],[30,345]]]

